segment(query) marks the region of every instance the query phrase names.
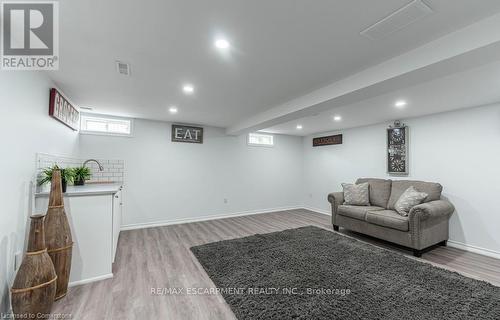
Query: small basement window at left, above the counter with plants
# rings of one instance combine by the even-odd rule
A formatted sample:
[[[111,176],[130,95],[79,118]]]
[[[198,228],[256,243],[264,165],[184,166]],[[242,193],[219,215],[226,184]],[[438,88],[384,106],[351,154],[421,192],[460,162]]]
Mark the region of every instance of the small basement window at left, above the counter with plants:
[[[80,133],[113,136],[130,136],[132,120],[108,116],[82,115]]]

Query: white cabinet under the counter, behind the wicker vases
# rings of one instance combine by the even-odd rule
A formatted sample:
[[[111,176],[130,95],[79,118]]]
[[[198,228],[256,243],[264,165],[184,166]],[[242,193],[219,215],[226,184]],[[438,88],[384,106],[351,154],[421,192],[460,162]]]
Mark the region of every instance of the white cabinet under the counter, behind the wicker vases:
[[[35,196],[36,212],[45,213],[48,195]],[[120,186],[68,187],[64,205],[73,237],[70,285],[113,276],[122,220]]]

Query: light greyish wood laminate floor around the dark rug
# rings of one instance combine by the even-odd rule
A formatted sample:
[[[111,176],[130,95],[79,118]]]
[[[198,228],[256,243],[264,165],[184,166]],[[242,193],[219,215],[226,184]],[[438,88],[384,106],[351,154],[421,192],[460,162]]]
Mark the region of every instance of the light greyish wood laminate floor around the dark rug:
[[[214,287],[190,247],[255,233],[314,225],[332,230],[330,217],[290,210],[182,225],[124,231],[109,280],[72,287],[53,313],[72,319],[235,319],[221,295],[153,295],[152,288]],[[342,229],[341,229],[342,231]],[[358,239],[411,255],[400,247],[359,234]],[[500,260],[438,247],[422,260],[500,285]]]

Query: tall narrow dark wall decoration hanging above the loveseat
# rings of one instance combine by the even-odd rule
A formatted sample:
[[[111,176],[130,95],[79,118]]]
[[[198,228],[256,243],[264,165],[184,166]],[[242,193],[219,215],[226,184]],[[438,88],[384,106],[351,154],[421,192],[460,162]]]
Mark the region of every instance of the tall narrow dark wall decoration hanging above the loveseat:
[[[408,127],[400,121],[387,128],[387,173],[408,175]]]

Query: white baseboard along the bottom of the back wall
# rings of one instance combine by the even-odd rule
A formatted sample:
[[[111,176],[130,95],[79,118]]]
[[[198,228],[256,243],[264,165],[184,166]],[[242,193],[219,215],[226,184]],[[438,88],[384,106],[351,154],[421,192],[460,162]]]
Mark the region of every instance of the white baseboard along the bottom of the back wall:
[[[263,214],[263,213],[286,211],[286,210],[296,210],[296,209],[302,209],[302,208],[303,208],[302,206],[291,206],[291,207],[280,207],[280,208],[251,210],[251,211],[242,211],[242,212],[234,212],[234,213],[201,216],[201,217],[196,217],[196,218],[181,218],[181,219],[162,220],[162,221],[146,222],[146,223],[135,223],[135,224],[123,225],[121,227],[121,230],[125,231],[125,230],[145,229],[145,228],[154,228],[154,227],[164,227],[164,226],[170,226],[170,225],[174,225],[174,224],[209,221],[209,220],[231,218],[231,217],[250,216],[250,215],[255,215],[255,214]]]

